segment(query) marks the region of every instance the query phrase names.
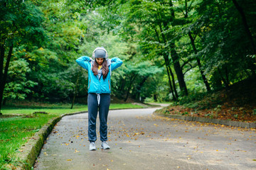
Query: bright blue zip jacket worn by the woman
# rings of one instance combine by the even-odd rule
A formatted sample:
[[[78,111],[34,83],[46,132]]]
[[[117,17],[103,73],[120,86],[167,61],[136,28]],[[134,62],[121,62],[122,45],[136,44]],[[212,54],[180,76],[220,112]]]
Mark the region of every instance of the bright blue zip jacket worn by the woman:
[[[88,93],[95,94],[110,94],[111,86],[110,86],[110,76],[111,71],[117,69],[122,65],[122,60],[117,57],[112,58],[111,64],[109,65],[109,70],[106,79],[103,79],[103,76],[100,78],[95,76],[92,72],[92,60],[90,57],[82,56],[79,57],[76,62],[84,69],[88,71]]]

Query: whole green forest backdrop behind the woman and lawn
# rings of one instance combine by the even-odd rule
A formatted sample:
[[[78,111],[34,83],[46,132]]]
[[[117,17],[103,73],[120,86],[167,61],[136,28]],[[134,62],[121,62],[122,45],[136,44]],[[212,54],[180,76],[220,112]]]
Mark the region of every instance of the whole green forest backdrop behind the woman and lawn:
[[[255,82],[254,0],[3,0],[0,18],[0,107],[86,103],[75,60],[101,46],[124,62],[112,72],[119,102],[186,101]]]

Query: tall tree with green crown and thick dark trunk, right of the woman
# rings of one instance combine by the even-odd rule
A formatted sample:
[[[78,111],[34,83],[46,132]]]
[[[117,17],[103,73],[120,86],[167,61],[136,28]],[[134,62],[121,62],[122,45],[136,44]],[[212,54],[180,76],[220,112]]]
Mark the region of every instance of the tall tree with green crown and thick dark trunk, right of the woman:
[[[128,13],[127,24],[130,26],[127,26],[127,29],[132,27],[134,28],[132,31],[133,33],[137,33],[137,37],[141,42],[141,45],[144,46],[146,52],[149,52],[150,50],[161,51],[150,53],[154,55],[158,53],[161,57],[164,57],[167,72],[171,70],[169,68],[171,66],[169,62],[173,62],[176,77],[178,79],[178,85],[180,86],[181,91],[183,91],[183,94],[188,94],[183,71],[179,61],[180,59],[178,57],[178,53],[176,52],[175,40],[173,40],[174,37],[169,30],[169,28],[171,26],[175,26],[176,23],[174,11],[172,10],[172,2],[130,1],[129,3],[130,11]],[[136,24],[135,27],[134,24]],[[124,29],[124,31],[127,31],[127,29]],[[131,30],[129,31],[132,33]],[[171,59],[169,56],[171,56]],[[171,80],[171,74],[169,74],[169,77]],[[170,89],[175,87],[172,86],[171,81],[169,81],[169,85]],[[174,98],[177,96],[178,95],[176,94]]]

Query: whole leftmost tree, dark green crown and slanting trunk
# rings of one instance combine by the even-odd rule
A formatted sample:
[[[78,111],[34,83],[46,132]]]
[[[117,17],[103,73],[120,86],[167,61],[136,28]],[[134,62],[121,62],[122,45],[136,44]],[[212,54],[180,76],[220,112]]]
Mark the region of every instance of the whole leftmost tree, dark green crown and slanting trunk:
[[[0,2],[0,111],[13,50],[19,45],[38,45],[43,40],[43,18],[30,1]],[[6,55],[5,52],[8,51]]]

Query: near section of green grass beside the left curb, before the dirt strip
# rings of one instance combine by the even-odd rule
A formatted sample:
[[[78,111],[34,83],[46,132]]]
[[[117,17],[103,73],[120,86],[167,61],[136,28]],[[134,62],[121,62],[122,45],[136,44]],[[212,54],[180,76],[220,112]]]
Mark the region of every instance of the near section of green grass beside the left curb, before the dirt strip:
[[[15,116],[0,119],[0,169],[4,164],[15,164],[15,154],[50,118],[56,115],[38,114],[31,118]]]

